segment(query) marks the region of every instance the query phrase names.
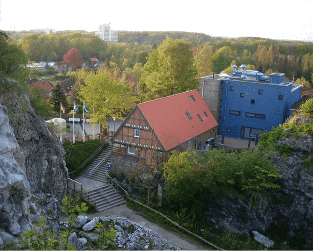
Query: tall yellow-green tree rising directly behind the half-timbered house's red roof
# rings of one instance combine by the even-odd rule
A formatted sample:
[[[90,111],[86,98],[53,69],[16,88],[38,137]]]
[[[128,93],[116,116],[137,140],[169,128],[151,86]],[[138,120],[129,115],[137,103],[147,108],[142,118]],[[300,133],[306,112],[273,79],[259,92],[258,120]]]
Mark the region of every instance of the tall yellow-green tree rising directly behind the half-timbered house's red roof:
[[[197,88],[190,44],[167,37],[149,54],[142,68],[142,84],[154,98],[166,97]]]

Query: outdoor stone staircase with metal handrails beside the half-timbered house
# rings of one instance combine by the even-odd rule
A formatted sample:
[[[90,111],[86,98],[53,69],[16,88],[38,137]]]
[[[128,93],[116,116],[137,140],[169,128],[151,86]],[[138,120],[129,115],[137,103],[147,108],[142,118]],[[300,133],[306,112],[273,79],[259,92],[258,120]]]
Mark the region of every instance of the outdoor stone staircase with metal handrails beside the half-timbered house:
[[[104,151],[102,151],[99,156],[84,170],[79,176],[79,182],[83,184],[84,192],[83,197],[89,199],[90,203],[93,204],[95,201],[97,205],[97,211],[101,212],[113,206],[120,205],[125,202],[122,196],[115,190],[115,188],[108,183],[106,171],[108,170],[108,163],[111,161],[111,146],[108,146]],[[89,172],[107,155],[107,158],[101,163],[101,165],[96,169],[89,178]],[[99,188],[110,198],[109,201],[104,197],[97,188],[94,188],[94,183],[96,183]],[[88,194],[86,193],[88,192]]]

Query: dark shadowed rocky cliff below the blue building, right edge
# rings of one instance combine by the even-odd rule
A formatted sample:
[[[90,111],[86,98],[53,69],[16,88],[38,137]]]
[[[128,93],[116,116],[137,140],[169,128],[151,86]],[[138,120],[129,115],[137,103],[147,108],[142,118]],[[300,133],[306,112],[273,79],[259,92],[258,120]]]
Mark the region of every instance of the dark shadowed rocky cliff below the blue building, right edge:
[[[247,200],[233,194],[224,200],[209,198],[205,202],[206,218],[216,227],[251,236],[252,230],[266,235],[271,229],[292,246],[312,250],[313,168],[303,163],[312,157],[313,140],[310,135],[295,135],[285,129],[277,146],[284,144],[292,148],[291,155],[276,152],[272,156],[283,175],[278,180],[281,191]]]

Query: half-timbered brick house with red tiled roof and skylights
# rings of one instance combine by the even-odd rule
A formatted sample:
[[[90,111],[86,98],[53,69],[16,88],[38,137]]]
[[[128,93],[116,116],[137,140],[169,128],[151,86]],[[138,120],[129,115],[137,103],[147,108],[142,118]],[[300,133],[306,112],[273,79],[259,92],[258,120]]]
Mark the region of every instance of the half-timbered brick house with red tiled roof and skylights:
[[[137,104],[113,134],[112,161],[120,158],[138,162],[147,150],[157,153],[157,161],[167,161],[171,151],[198,149],[215,138],[218,123],[198,90]]]

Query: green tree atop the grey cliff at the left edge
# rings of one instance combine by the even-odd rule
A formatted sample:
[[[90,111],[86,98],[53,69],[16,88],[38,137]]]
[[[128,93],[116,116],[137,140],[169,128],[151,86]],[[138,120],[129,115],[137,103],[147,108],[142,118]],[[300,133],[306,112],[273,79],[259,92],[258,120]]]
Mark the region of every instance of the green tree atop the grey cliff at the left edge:
[[[0,78],[8,77],[14,79],[0,81],[0,98],[4,93],[10,96],[20,96],[21,90],[26,90],[25,79],[28,70],[22,65],[26,64],[26,57],[22,48],[15,41],[9,39],[8,35],[0,30]]]

